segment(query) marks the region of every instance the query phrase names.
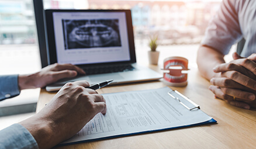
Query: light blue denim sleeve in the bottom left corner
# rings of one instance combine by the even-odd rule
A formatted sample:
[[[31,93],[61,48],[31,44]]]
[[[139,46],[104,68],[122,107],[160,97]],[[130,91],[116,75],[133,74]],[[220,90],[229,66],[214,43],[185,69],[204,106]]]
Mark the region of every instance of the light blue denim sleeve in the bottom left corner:
[[[20,124],[0,131],[0,148],[39,148],[32,134]]]

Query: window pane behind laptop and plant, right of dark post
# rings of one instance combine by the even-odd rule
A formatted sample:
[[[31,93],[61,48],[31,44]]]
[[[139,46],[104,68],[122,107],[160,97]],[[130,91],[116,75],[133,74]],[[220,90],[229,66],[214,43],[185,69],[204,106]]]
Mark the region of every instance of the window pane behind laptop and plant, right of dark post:
[[[44,0],[44,8],[131,9],[138,43],[147,43],[148,36],[157,34],[162,45],[199,44],[220,1]]]

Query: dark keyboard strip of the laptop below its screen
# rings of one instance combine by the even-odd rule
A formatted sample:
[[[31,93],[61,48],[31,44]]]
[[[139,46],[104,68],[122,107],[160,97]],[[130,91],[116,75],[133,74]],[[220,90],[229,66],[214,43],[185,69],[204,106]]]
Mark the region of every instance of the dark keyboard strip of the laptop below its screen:
[[[104,65],[98,67],[88,67],[82,68],[87,75],[92,74],[106,74],[111,72],[123,72],[123,71],[133,71],[135,68],[130,64],[122,65]]]

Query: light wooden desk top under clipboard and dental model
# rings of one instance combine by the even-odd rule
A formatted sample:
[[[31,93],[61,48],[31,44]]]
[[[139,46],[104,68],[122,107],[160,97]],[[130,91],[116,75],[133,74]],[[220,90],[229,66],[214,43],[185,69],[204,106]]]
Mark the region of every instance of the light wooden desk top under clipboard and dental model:
[[[157,66],[150,66],[160,71]],[[176,89],[200,105],[207,115],[217,120],[218,124],[188,127],[155,133],[119,137],[90,143],[80,143],[57,148],[255,148],[256,111],[244,110],[214,98],[209,91],[209,82],[200,77],[197,68],[191,68],[188,85]],[[161,81],[108,86],[97,90],[99,93],[136,91],[161,88]],[[41,89],[37,112],[55,93]]]

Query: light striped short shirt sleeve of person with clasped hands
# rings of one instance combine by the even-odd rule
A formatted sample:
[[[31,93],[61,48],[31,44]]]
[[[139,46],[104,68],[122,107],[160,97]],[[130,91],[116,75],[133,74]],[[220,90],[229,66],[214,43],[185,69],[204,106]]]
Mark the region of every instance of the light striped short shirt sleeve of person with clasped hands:
[[[201,44],[228,54],[231,46],[241,40],[243,34],[238,20],[238,2],[223,0],[217,14],[210,20]]]

